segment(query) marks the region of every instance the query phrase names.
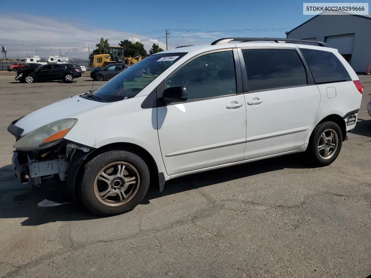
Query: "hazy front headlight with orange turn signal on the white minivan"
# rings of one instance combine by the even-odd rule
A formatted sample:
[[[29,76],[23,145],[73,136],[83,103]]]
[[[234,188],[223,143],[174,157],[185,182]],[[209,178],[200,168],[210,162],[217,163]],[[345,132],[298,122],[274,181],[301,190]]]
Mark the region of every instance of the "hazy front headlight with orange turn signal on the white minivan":
[[[63,139],[75,125],[77,119],[62,119],[41,126],[24,135],[13,148],[19,150],[45,149]]]

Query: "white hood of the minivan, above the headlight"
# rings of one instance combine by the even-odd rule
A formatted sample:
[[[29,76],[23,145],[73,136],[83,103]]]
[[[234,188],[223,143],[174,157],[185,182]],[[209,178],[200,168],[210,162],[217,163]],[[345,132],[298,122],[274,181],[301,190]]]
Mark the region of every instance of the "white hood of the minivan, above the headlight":
[[[79,96],[69,97],[40,108],[16,122],[14,125],[24,129],[21,136],[56,120],[72,118],[78,114],[109,103],[83,99]]]

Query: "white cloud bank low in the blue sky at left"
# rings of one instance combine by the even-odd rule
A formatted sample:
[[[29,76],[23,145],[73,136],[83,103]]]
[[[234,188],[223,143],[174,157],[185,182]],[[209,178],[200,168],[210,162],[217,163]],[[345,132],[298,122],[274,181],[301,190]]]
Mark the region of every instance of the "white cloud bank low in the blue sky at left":
[[[69,53],[71,57],[87,58],[88,46],[90,51],[95,48],[96,39],[109,39],[111,45],[120,40],[129,39],[133,42],[142,40],[145,49],[150,50],[153,43],[159,44],[162,49],[166,44],[157,39],[164,34],[157,33],[148,36],[131,36],[129,32],[118,32],[109,29],[93,29],[88,24],[70,23],[52,19],[50,17],[31,16],[27,14],[0,14],[1,44],[7,48],[8,57],[49,56]],[[61,49],[59,51],[59,48]]]

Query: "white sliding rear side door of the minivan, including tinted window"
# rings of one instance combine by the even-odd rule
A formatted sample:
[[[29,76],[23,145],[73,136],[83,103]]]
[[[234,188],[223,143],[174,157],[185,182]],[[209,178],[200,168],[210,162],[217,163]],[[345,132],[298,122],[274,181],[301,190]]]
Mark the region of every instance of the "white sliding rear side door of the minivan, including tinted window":
[[[301,148],[318,111],[320,92],[292,49],[243,49],[248,92],[245,159]]]

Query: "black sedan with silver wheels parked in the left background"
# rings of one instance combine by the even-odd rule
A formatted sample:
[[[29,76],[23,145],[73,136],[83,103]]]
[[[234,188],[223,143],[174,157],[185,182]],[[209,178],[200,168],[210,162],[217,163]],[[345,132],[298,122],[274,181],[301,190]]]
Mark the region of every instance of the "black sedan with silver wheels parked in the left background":
[[[68,64],[46,64],[40,67],[28,67],[17,72],[16,80],[24,83],[43,82],[51,80],[63,80],[66,83],[72,82],[74,78],[81,76],[78,68]]]

